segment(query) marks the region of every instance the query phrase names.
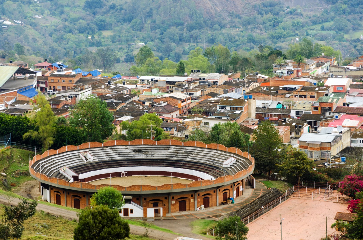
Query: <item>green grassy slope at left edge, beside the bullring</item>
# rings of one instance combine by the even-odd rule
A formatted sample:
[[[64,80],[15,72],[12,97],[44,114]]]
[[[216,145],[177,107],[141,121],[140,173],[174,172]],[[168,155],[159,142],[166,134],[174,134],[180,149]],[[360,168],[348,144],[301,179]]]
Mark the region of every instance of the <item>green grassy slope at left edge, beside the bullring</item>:
[[[3,190],[10,190],[15,188],[21,183],[32,180],[29,174],[28,161],[34,157],[34,153],[22,149],[11,148],[9,156],[3,154],[0,157],[0,172],[7,174],[6,177],[1,175],[1,179],[7,179],[8,187],[0,183],[0,188]],[[2,181],[1,181],[2,182]]]

